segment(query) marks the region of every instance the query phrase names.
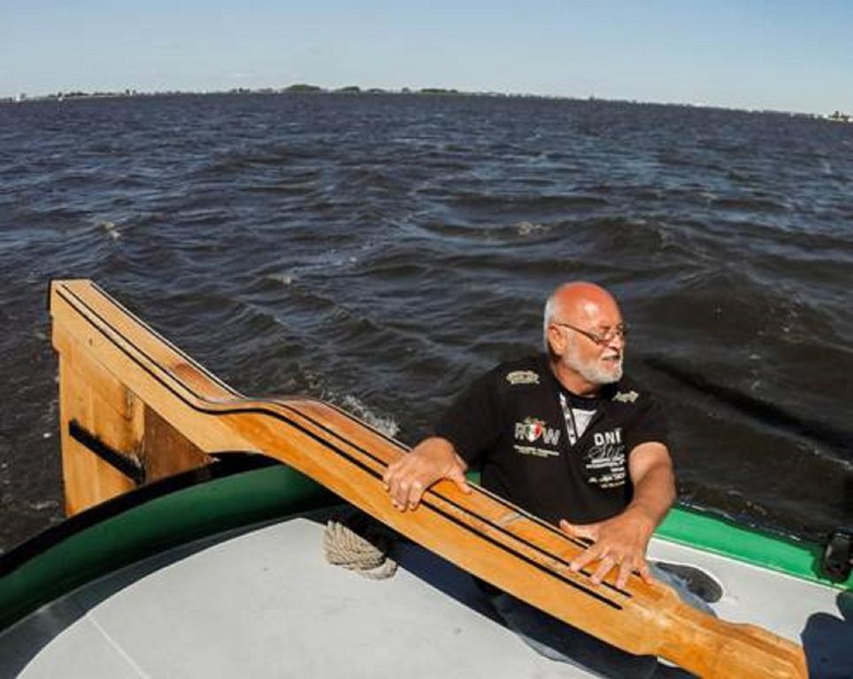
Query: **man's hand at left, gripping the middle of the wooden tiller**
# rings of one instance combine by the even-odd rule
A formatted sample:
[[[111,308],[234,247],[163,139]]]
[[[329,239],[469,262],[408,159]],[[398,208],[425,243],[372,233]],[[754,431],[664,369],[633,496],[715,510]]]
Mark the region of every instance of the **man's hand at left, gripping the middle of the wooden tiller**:
[[[442,478],[457,484],[462,492],[471,492],[465,481],[467,465],[450,441],[434,437],[424,439],[396,462],[391,462],[382,481],[391,503],[404,512],[418,507],[426,489]]]

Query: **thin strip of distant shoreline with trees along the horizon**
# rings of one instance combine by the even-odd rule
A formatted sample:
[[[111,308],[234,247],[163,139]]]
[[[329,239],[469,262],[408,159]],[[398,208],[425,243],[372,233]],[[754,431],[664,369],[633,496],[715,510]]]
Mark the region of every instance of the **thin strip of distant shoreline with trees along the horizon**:
[[[717,111],[740,111],[743,113],[772,113],[776,115],[787,115],[797,118],[817,118],[832,120],[836,122],[853,123],[853,117],[840,114],[835,111],[832,115],[821,113],[805,113],[801,111],[775,111],[772,109],[735,109],[727,106],[715,106],[708,103],[677,103],[677,102],[644,102],[636,99],[606,99],[603,97],[588,96],[566,96],[566,95],[537,95],[537,94],[507,94],[503,92],[468,92],[454,88],[360,88],[350,85],[343,88],[321,88],[318,85],[296,83],[286,88],[231,88],[222,90],[163,90],[154,92],[140,92],[135,89],[123,91],[96,91],[84,92],[71,90],[68,92],[55,92],[47,95],[27,95],[0,97],[0,104],[4,103],[39,103],[39,102],[71,102],[91,101],[96,99],[143,99],[157,96],[219,96],[219,95],[350,95],[350,96],[375,96],[375,95],[416,95],[416,96],[451,96],[451,97],[480,97],[495,99],[533,99],[549,101],[572,101],[572,102],[603,102],[603,103],[626,103],[642,106],[674,106],[687,109],[710,109]]]

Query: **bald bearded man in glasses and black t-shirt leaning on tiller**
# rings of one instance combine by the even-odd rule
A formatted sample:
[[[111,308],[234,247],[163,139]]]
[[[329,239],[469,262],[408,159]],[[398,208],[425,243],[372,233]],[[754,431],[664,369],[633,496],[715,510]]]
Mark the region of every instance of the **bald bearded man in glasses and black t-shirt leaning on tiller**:
[[[632,570],[650,580],[646,548],[675,487],[662,409],[622,375],[626,332],[619,305],[602,287],[559,286],[545,305],[547,354],[503,363],[477,379],[434,437],[388,467],[384,480],[395,507],[417,507],[442,478],[470,492],[465,470],[480,464],[488,490],[592,540],[574,570],[592,564],[596,584],[614,568],[619,587]],[[658,669],[654,658],[620,651],[509,594],[487,591],[504,621],[549,657],[608,676],[652,676]]]

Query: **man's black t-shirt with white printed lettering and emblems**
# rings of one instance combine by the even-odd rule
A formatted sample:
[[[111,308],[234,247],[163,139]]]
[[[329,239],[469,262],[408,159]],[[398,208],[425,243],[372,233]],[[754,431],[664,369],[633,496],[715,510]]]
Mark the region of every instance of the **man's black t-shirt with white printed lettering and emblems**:
[[[629,455],[642,443],[666,443],[663,409],[640,385],[623,378],[581,398],[545,355],[475,380],[434,432],[481,467],[483,487],[550,523],[619,514],[634,492]]]

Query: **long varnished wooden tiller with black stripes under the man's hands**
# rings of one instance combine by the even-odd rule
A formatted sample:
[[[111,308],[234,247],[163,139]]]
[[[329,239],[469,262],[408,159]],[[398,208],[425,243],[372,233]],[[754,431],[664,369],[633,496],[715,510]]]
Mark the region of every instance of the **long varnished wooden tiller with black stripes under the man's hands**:
[[[583,543],[491,493],[475,488],[469,495],[441,482],[417,510],[396,511],[382,475],[406,454],[400,443],[321,401],[242,397],[88,281],[54,282],[50,309],[64,432],[76,420],[100,439],[145,450],[145,437],[153,436],[148,423],[157,423],[162,436],[165,421],[173,439],[200,454],[254,449],[461,568],[628,652],[658,655],[703,677],[807,676],[800,646],[700,613],[665,585],[632,576],[620,590],[614,575],[594,586],[588,571],[568,566]],[[119,398],[123,407],[111,402]],[[64,433],[64,459],[66,447],[69,457],[81,457]]]

